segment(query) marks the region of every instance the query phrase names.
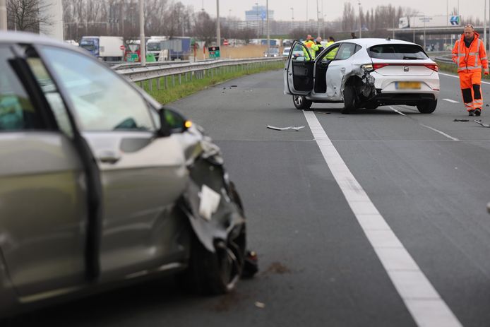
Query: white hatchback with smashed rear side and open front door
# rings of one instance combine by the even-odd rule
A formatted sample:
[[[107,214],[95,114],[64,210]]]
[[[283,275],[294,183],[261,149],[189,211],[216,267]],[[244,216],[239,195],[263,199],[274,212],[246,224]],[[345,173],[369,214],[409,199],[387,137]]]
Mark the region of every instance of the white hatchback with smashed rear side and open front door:
[[[292,44],[284,71],[284,93],[297,109],[313,102],[344,103],[342,113],[380,105],[417,106],[430,114],[437,106],[437,64],[418,44],[388,39],[335,42],[316,59],[301,42]],[[305,57],[305,54],[308,57]]]

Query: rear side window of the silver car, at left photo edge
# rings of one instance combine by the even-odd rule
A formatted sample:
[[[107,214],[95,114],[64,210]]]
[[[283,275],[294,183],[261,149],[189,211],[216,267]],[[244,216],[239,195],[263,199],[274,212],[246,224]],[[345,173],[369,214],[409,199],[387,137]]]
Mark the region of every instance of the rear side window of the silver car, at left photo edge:
[[[14,73],[11,59],[11,50],[0,46],[0,131],[40,129],[42,117]]]

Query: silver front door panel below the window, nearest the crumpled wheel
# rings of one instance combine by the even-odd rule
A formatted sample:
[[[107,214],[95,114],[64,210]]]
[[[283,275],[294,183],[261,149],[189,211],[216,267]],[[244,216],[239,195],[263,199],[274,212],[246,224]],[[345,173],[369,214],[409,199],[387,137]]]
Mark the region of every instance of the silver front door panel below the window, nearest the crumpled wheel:
[[[167,263],[162,259],[181,250],[171,236],[181,228],[172,208],[189,183],[181,145],[143,131],[83,136],[102,180],[100,278],[122,278]]]

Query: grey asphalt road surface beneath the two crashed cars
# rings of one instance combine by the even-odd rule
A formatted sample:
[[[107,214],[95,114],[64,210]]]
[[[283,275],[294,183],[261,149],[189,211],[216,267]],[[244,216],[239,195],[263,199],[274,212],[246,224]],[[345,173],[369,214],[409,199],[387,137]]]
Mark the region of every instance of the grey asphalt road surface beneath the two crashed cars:
[[[234,86],[233,86],[234,85]],[[482,85],[484,100],[490,85]],[[458,101],[459,103],[448,100]],[[223,297],[172,278],[23,315],[12,326],[417,326],[342,194],[282,72],[174,103],[223,150],[260,272]],[[312,111],[345,165],[463,326],[490,324],[490,129],[469,119],[457,78],[436,112]],[[480,117],[490,123],[490,107]],[[305,126],[274,131],[273,126]]]

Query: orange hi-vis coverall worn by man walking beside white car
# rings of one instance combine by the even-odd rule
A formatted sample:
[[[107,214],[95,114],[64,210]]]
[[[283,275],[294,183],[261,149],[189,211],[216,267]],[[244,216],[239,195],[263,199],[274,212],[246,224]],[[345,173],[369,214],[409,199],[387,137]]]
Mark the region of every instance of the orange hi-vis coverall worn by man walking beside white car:
[[[479,34],[474,32],[474,39],[470,47],[467,47],[463,34],[453,48],[453,61],[458,65],[462,100],[469,112],[474,109],[482,109],[482,66],[485,75],[489,73],[489,61],[486,58],[485,45],[478,37]]]

